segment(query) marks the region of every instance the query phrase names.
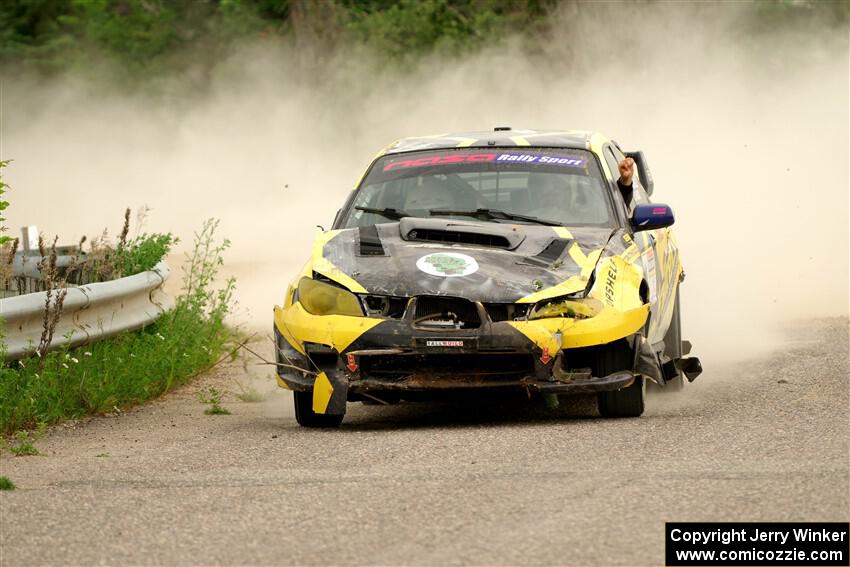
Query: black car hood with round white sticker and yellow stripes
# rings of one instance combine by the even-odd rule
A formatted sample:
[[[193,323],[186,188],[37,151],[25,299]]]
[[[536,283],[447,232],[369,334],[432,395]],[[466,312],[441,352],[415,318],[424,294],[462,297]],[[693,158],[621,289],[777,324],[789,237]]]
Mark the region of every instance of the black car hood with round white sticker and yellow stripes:
[[[513,303],[581,276],[582,268],[586,283],[593,258],[598,258],[591,253],[603,249],[612,232],[404,218],[341,230],[324,245],[322,256],[367,293]],[[334,279],[333,273],[323,275]]]

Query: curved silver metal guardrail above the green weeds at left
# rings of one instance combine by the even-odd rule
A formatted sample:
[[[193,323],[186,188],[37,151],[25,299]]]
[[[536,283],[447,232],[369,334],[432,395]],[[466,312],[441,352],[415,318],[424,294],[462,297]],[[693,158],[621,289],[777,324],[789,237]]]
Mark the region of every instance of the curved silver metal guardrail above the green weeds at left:
[[[160,262],[141,274],[67,288],[50,349],[93,342],[156,321],[174,306],[174,300],[162,290],[169,274],[168,264]],[[38,345],[46,299],[47,292],[0,299],[6,360],[29,356]]]

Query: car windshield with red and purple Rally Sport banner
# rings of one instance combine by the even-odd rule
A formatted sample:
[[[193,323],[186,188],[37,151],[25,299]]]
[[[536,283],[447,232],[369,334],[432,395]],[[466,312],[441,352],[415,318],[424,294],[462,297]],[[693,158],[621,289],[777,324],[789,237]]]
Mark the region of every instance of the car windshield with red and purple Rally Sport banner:
[[[405,216],[613,226],[611,199],[585,150],[481,148],[389,155],[369,170],[339,226]]]

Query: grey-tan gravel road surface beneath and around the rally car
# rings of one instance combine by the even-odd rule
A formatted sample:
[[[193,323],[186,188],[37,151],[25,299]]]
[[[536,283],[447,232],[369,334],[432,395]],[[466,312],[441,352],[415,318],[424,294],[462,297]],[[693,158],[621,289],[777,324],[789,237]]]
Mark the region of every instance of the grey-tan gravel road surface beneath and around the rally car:
[[[350,404],[338,431],[300,429],[268,367],[221,369],[0,457],[0,564],[660,565],[665,521],[847,521],[847,319],[703,362],[640,419]],[[235,380],[269,394],[204,415]]]

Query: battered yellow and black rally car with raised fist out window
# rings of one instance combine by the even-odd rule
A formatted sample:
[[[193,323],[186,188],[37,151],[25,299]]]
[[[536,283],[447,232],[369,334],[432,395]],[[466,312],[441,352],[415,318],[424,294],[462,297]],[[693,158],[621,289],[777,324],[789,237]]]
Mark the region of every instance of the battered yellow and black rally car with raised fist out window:
[[[625,155],[630,195],[624,153],[589,132],[501,127],[382,151],[275,308],[298,423],[462,391],[550,406],[595,393],[602,416],[639,416],[647,380],[693,380],[673,212],[650,202],[643,154]]]

